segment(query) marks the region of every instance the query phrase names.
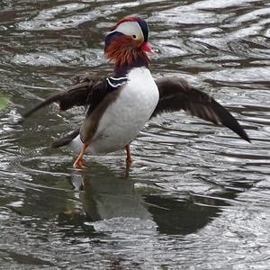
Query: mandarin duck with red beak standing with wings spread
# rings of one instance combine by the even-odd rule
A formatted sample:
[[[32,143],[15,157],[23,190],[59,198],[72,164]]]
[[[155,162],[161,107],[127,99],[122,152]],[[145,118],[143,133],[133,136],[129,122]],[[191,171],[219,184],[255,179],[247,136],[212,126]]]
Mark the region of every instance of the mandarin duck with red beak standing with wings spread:
[[[189,85],[181,77],[162,76],[154,79],[149,70],[148,23],[136,15],[121,18],[104,39],[104,56],[113,65],[112,76],[85,73],[76,76],[74,85],[53,94],[22,115],[23,122],[33,112],[50,103],[60,111],[73,106],[85,107],[81,126],[54,141],[52,148],[71,145],[79,148],[73,166],[85,166],[87,150],[105,155],[126,149],[126,162],[131,164],[130,143],[147,121],[163,112],[184,110],[216,125],[223,125],[250,142],[238,121],[211,95]]]

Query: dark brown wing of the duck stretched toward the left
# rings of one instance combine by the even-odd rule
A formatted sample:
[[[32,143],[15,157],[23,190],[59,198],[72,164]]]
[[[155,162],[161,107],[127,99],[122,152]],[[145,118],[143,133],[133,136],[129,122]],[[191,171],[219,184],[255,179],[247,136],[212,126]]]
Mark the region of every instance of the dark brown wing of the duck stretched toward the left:
[[[103,100],[103,97],[108,93],[106,80],[101,80],[94,76],[85,74],[76,77],[76,84],[62,91],[54,94],[46,99],[44,102],[39,103],[30,111],[23,114],[22,122],[25,118],[31,116],[33,112],[49,105],[50,103],[58,103],[59,110],[66,111],[73,106],[89,106],[87,113],[94,110],[94,107]]]

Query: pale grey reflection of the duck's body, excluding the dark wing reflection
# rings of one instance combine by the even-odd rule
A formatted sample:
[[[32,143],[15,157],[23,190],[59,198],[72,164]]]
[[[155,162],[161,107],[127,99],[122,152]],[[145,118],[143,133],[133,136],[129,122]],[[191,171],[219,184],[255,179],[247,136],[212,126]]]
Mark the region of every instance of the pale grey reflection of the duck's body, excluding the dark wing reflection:
[[[134,181],[127,176],[114,175],[103,167],[98,175],[74,175],[72,182],[82,190],[80,199],[90,220],[151,219],[141,195],[135,191]]]

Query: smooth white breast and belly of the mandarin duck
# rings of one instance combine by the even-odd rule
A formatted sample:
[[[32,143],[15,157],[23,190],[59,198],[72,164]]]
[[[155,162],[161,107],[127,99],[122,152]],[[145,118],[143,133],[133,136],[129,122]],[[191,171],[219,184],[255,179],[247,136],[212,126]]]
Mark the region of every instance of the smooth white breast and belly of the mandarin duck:
[[[159,94],[148,68],[135,67],[128,83],[103,113],[88,146],[93,154],[109,153],[124,148],[139,133],[155,110]],[[79,139],[76,138],[74,143]]]

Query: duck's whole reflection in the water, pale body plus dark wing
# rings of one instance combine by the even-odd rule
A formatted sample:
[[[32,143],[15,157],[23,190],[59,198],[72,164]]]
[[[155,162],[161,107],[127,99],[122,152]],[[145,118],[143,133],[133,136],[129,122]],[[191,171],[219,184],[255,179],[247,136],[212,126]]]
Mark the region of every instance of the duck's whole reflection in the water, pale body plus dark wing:
[[[118,175],[106,167],[76,172],[72,184],[81,189],[80,200],[88,220],[109,220],[115,217],[153,220],[157,230],[166,234],[189,234],[202,229],[220,212],[222,200],[190,194],[177,197],[164,195],[153,184],[136,187],[138,181]],[[163,193],[162,195],[158,193]]]

